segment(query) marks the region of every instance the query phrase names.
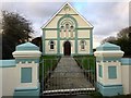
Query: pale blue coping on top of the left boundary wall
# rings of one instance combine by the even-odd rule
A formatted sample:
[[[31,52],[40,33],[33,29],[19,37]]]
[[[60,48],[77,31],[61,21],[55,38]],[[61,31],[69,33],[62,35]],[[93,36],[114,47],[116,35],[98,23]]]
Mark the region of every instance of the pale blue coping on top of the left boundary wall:
[[[13,68],[15,65],[15,60],[0,60],[0,68]]]

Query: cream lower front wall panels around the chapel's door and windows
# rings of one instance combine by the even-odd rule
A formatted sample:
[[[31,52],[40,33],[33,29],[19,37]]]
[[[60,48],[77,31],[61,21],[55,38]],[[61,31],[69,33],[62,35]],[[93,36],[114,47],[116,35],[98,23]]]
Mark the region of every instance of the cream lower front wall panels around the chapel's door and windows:
[[[45,40],[45,49],[46,49],[45,54],[57,54],[57,48],[58,48],[57,40],[53,39],[55,49],[51,49],[51,50],[50,50],[49,41],[50,40]],[[63,49],[64,49],[63,45],[64,45],[66,41],[67,40],[64,40],[64,39],[60,40],[60,54],[62,54],[62,56],[63,56]],[[78,48],[78,53],[79,54],[90,54],[91,45],[90,45],[88,39],[84,39],[84,41],[86,42],[84,50],[81,49],[81,45],[80,45],[81,39],[78,39],[78,47],[75,47],[75,40],[71,39],[71,40],[68,40],[68,41],[71,42],[71,54],[75,54],[75,48]]]

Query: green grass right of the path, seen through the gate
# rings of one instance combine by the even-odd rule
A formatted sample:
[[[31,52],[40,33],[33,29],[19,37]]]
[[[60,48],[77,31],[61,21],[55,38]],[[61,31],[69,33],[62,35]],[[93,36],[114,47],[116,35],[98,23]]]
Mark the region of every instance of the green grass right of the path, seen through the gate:
[[[73,57],[82,69],[85,77],[95,86],[96,82],[96,59],[94,56]]]

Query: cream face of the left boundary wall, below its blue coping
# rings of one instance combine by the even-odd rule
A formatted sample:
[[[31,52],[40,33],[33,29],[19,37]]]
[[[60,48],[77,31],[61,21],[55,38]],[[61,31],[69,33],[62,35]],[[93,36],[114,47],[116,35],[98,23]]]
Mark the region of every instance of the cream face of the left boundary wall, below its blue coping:
[[[14,88],[19,83],[15,68],[2,69],[2,96],[13,96]]]

